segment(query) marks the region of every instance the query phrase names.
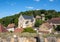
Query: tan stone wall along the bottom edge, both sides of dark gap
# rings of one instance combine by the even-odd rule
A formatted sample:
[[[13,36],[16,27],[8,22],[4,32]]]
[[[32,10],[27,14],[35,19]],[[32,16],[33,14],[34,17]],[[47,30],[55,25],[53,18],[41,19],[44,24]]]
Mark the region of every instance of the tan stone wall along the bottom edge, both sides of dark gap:
[[[7,37],[0,38],[0,42],[60,42],[60,38],[40,38],[40,41],[37,41],[34,37]]]

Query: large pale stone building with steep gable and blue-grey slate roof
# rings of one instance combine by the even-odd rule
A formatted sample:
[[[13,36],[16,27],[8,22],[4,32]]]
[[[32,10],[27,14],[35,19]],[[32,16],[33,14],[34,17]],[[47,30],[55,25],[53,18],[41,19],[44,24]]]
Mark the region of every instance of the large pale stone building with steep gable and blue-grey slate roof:
[[[35,24],[34,16],[20,15],[18,19],[18,28],[33,27]]]

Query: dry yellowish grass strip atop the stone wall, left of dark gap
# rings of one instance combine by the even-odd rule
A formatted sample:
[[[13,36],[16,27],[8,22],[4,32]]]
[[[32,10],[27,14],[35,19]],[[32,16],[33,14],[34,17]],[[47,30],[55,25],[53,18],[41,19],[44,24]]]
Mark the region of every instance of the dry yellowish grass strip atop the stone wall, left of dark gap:
[[[18,37],[35,37],[37,36],[36,33],[0,33],[1,38],[7,38],[7,37],[13,37],[13,35],[16,35]]]

